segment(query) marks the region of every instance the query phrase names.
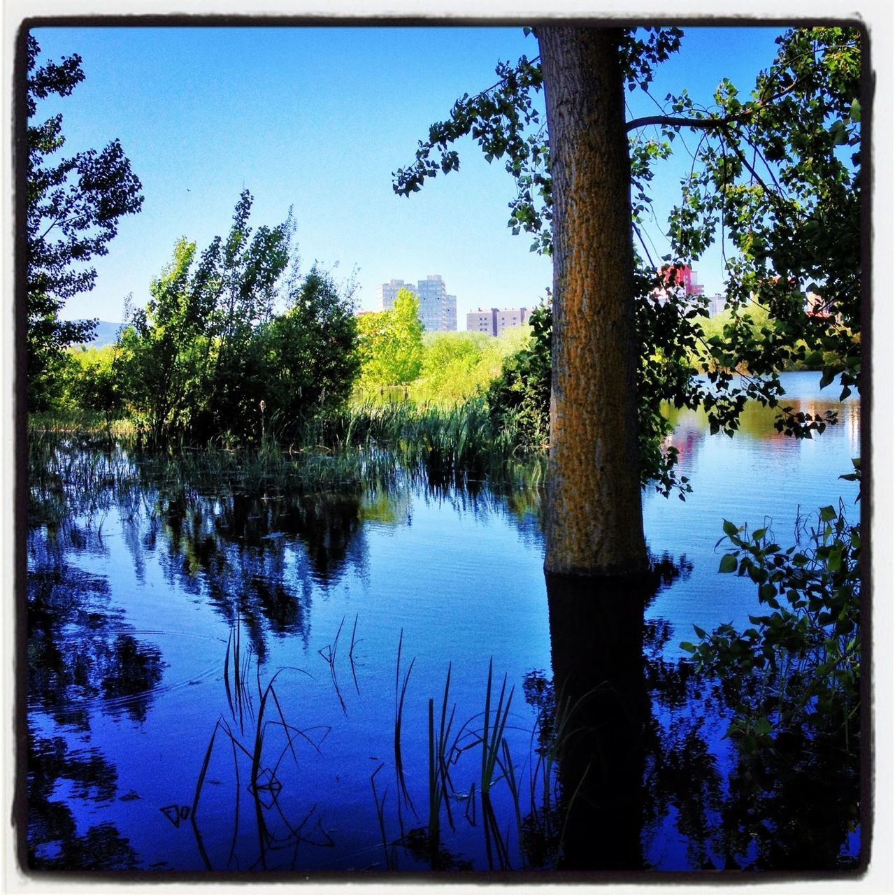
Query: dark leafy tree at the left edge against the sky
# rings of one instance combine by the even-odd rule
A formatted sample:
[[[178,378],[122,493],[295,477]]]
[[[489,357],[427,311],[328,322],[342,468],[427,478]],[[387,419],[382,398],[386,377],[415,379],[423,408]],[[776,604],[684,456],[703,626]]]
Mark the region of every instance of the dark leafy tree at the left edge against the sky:
[[[34,123],[38,100],[71,95],[84,80],[81,56],[38,67],[40,47],[33,35],[27,52],[26,356],[28,402],[39,410],[52,402],[65,348],[89,339],[95,326],[92,320],[59,320],[59,311],[73,295],[93,288],[97,271],[90,260],[107,254],[118,218],[139,211],[143,197],[117,140],[101,151],[52,158],[65,142],[62,115]]]

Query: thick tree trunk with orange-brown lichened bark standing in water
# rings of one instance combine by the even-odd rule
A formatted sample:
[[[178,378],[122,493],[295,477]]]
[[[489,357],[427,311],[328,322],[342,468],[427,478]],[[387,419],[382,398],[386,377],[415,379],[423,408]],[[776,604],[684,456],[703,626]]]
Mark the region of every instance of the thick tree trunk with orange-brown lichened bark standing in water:
[[[538,29],[554,203],[544,567],[562,575],[639,574],[647,565],[620,37]]]

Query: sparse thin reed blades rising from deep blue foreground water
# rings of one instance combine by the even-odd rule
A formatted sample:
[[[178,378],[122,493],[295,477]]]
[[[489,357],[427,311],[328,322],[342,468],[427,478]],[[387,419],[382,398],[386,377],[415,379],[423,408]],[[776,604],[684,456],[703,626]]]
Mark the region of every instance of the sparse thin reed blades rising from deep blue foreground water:
[[[343,619],[339,626],[339,632],[343,630],[344,621]],[[356,618],[354,627],[357,627]],[[338,639],[337,634],[329,651],[321,651],[325,653],[324,658],[331,655],[335,661]],[[354,632],[352,639],[354,642]],[[242,843],[245,848],[255,838],[257,845],[251,845],[251,852],[257,853],[258,857],[253,866],[262,869],[267,868],[274,853],[282,849],[294,848],[297,853],[301,843],[318,846],[333,844],[322,828],[322,836],[315,837],[315,840],[309,839],[307,832],[303,831],[305,823],[316,811],[316,804],[303,820],[296,822],[282,804],[286,800],[279,799],[281,780],[282,787],[289,788],[292,801],[295,796],[292,782],[294,778],[286,776],[284,764],[298,766],[300,750],[297,746],[301,743],[310,744],[321,754],[321,746],[330,728],[302,728],[293,720],[287,719],[277,683],[286,669],[279,669],[264,684],[257,656],[250,652],[248,658],[241,657],[239,644],[237,621],[226,645],[224,657],[226,697],[234,718],[237,718],[234,694],[241,688],[241,698],[245,702],[243,715],[251,717],[252,723],[244,729],[241,723],[239,729],[234,729],[225,718],[217,720],[202,757],[190,808],[200,855],[209,869],[212,861],[201,835],[201,804],[209,778],[222,776],[219,764],[219,752],[222,748],[225,754],[232,753],[234,778],[234,832],[227,866],[231,866],[234,861],[238,864],[240,860],[234,857],[237,844]],[[250,668],[252,663],[254,669]],[[381,788],[380,772],[386,766],[384,762],[379,762],[370,776],[375,810],[373,823],[379,828],[379,846],[385,866],[389,870],[396,870],[397,850],[403,848],[414,860],[428,863],[432,869],[471,869],[469,861],[462,856],[452,855],[446,848],[446,843],[447,847],[450,846],[450,837],[462,832],[458,828],[463,824],[468,824],[465,829],[481,833],[482,852],[490,869],[543,867],[549,866],[550,861],[555,862],[561,849],[561,829],[567,808],[559,797],[556,761],[565,737],[575,732],[569,730],[569,719],[574,714],[575,706],[560,697],[556,701],[557,710],[554,712],[548,703],[544,703],[535,721],[535,728],[531,731],[529,748],[523,748],[521,754],[514,754],[514,748],[518,753],[518,734],[521,731],[512,726],[514,687],[508,685],[507,676],[499,683],[493,662],[490,661],[482,711],[473,714],[465,723],[458,724],[457,706],[451,695],[454,669],[452,664],[448,664],[439,698],[429,698],[426,701],[425,733],[422,737],[413,737],[417,743],[424,744],[425,753],[414,752],[408,755],[402,747],[402,734],[406,724],[405,703],[410,699],[409,684],[414,664],[415,658],[409,662],[405,660],[402,632],[398,639],[395,672],[394,734],[398,786],[394,790],[389,787]],[[239,670],[236,672],[234,669]],[[254,678],[256,686],[248,686],[250,677]],[[294,696],[292,694],[293,699]],[[516,735],[511,736],[511,731],[516,731]],[[274,732],[276,737],[272,735]],[[540,745],[535,748],[535,743]],[[224,761],[226,763],[226,757]],[[421,764],[425,768],[424,772],[407,772],[411,768],[421,771],[422,768],[418,767]],[[215,769],[213,774],[212,767]],[[456,784],[464,778],[468,780],[467,773],[471,773],[472,779],[463,791]],[[416,815],[411,801],[411,780],[415,781],[415,785],[425,787],[428,813],[420,813],[420,820],[425,826],[417,825],[405,831],[402,805],[409,806]],[[216,782],[219,783],[220,780]],[[217,787],[214,789],[219,799],[224,790]],[[243,790],[249,793],[250,801],[246,805],[246,815],[240,820],[240,796]],[[389,796],[392,799],[390,808]],[[463,802],[466,805],[465,813],[459,813],[456,804]],[[400,834],[390,837],[388,825],[395,822],[400,827]]]

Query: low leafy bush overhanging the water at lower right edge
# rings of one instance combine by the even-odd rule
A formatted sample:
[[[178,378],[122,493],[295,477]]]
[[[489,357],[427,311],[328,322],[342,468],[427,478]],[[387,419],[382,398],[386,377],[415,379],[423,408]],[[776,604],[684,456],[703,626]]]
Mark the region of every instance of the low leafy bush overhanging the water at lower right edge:
[[[697,669],[721,678],[732,700],[728,735],[746,750],[794,730],[822,731],[854,749],[860,701],[861,531],[840,507],[822,507],[805,549],[783,550],[771,530],[752,533],[725,521],[733,548],[719,571],[748,575],[766,611],[752,627],[695,626],[681,646]]]

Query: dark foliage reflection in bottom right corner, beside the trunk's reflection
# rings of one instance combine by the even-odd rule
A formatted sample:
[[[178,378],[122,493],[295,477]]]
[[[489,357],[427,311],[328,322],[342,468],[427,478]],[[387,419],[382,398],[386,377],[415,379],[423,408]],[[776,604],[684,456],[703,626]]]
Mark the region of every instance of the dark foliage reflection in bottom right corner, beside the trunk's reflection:
[[[721,739],[732,703],[722,686],[695,678],[686,662],[656,680],[644,774],[648,851],[669,869],[857,866],[857,759],[841,731],[803,730],[739,748]],[[686,707],[669,712],[666,694],[681,689]],[[683,854],[667,850],[669,820]]]

